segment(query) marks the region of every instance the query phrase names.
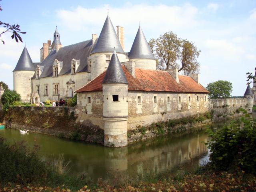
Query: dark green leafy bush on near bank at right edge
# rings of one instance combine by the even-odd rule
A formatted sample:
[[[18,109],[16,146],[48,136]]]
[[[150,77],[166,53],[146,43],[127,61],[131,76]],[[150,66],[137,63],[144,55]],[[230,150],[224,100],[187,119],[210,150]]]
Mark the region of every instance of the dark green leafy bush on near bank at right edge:
[[[213,168],[226,170],[231,166],[256,174],[256,120],[248,115],[213,132],[207,143]]]

